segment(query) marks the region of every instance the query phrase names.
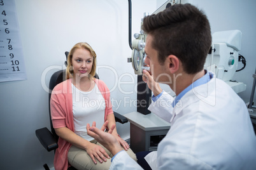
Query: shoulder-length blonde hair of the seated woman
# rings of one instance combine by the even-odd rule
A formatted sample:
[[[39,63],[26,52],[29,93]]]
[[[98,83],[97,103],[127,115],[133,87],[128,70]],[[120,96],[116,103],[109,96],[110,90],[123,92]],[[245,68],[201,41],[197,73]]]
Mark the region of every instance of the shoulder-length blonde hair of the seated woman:
[[[73,66],[72,66],[72,58],[73,58],[73,54],[75,53],[76,49],[87,49],[88,51],[90,51],[90,55],[92,55],[93,58],[93,62],[92,62],[92,70],[89,73],[89,79],[93,79],[95,73],[96,73],[96,53],[94,51],[94,49],[92,49],[92,47],[87,43],[87,42],[78,42],[77,44],[75,44],[75,46],[73,46],[73,48],[70,50],[69,55],[68,55],[68,66],[66,69],[66,79],[70,79],[71,77],[73,77]]]

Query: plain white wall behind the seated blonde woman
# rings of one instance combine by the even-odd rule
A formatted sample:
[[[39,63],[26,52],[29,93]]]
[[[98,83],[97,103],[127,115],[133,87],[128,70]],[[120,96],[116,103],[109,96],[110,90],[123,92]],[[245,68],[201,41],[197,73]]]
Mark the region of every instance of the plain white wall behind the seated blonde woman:
[[[43,169],[43,164],[50,167],[53,164],[53,152],[47,152],[34,133],[45,126],[50,128],[48,93],[44,88],[53,71],[62,67],[64,52],[76,42],[89,42],[96,51],[100,79],[113,89],[114,102],[121,102],[118,108],[117,102],[113,103],[116,106],[113,110],[120,114],[136,110],[133,104],[129,107],[124,102],[124,96],[128,97],[126,101],[136,100],[137,81],[131,63],[127,63],[131,57],[128,1],[15,0],[15,4],[27,80],[0,83],[0,166],[1,169]],[[143,13],[155,9],[156,0],[132,1],[132,35],[139,31]],[[132,84],[115,86],[116,82],[132,80]],[[132,94],[125,95],[122,91]],[[129,123],[117,126],[118,133],[127,138]]]

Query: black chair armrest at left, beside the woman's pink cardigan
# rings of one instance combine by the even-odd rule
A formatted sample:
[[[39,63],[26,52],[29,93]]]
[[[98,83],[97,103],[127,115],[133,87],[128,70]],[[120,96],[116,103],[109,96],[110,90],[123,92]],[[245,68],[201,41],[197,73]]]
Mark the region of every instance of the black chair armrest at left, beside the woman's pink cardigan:
[[[57,141],[55,140],[53,134],[47,128],[41,128],[36,130],[36,136],[38,140],[43,145],[43,147],[50,152],[58,148]]]

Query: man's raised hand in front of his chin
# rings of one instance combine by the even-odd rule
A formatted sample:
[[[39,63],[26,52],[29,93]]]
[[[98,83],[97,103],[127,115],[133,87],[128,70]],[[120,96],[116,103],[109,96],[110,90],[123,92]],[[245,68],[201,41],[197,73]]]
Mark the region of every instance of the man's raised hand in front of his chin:
[[[153,92],[153,95],[157,96],[162,92],[162,89],[159,86],[159,83],[155,82],[151,72],[147,70],[143,70],[142,79],[146,84],[148,84],[148,88],[150,88]]]

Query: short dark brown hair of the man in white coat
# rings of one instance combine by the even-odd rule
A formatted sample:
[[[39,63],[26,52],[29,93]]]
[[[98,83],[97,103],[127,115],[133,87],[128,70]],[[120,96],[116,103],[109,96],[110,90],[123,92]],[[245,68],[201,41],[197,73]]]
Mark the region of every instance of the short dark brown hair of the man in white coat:
[[[188,74],[203,70],[211,48],[211,29],[207,16],[191,4],[174,4],[156,15],[146,16],[142,29],[153,37],[152,48],[163,64],[175,55]]]

